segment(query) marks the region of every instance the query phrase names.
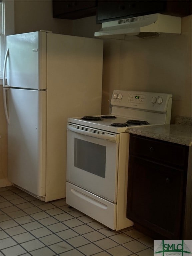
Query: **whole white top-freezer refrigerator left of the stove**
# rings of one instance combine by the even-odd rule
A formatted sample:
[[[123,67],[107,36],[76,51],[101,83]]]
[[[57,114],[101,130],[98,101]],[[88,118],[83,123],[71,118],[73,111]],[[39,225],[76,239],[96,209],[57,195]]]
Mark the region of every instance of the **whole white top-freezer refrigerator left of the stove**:
[[[67,117],[101,113],[103,40],[40,31],[7,36],[7,47],[8,179],[63,198]]]

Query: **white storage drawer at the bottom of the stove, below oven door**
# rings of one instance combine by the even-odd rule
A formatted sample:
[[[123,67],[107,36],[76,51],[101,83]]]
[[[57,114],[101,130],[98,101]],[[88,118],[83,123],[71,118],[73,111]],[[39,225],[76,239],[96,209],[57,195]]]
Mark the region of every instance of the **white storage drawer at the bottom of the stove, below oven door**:
[[[66,203],[105,226],[116,229],[116,204],[69,182],[66,187]]]

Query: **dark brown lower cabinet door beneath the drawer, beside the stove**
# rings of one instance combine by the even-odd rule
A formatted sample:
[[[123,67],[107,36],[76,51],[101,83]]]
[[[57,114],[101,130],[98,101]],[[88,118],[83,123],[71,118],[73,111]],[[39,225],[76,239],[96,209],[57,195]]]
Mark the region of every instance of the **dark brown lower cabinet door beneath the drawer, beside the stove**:
[[[179,239],[183,171],[129,158],[127,218],[170,239]]]

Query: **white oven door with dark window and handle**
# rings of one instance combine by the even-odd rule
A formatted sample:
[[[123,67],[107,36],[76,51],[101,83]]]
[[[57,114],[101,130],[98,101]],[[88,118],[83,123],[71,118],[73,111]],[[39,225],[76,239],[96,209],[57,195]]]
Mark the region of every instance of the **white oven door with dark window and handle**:
[[[67,125],[67,181],[116,203],[119,134]]]

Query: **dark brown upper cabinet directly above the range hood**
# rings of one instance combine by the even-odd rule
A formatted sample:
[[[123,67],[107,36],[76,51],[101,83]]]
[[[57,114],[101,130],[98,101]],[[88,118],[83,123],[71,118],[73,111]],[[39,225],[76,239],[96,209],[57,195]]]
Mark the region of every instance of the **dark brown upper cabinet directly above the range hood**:
[[[96,23],[152,13],[184,17],[191,14],[191,1],[98,1]]]

